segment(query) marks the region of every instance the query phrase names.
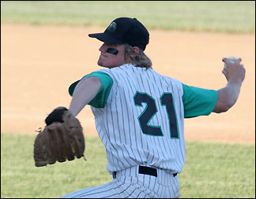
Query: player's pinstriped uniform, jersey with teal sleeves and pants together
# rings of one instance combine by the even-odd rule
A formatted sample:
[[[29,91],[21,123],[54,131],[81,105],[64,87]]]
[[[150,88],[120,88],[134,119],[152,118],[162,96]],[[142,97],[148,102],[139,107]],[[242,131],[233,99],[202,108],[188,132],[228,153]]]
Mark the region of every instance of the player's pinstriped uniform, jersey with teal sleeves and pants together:
[[[89,76],[101,82],[88,104],[107,151],[107,170],[117,172],[112,182],[63,197],[179,197],[179,179],[172,174],[182,171],[185,160],[184,117],[209,115],[217,91],[189,87],[134,64],[83,78]],[[70,86],[70,95],[79,81]],[[156,168],[157,177],[144,175],[141,165]]]

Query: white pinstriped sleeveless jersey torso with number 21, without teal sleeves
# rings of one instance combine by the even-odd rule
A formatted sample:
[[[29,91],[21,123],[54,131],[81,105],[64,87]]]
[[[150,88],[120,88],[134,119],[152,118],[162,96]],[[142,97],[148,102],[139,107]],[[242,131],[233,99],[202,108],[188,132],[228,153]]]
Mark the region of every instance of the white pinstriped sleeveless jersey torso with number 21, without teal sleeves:
[[[107,150],[107,170],[145,164],[181,172],[185,160],[182,83],[133,64],[99,72],[113,79],[104,108],[92,107]]]

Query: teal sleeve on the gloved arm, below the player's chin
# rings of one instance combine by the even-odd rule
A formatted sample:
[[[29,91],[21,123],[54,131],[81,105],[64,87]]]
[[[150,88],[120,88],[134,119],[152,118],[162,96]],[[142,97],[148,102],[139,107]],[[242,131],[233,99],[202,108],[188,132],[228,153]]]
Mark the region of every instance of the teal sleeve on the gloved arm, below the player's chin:
[[[93,98],[92,101],[88,103],[88,105],[92,105],[95,108],[104,108],[107,102],[107,98],[111,92],[111,88],[113,86],[113,79],[105,72],[92,72],[84,76],[82,79],[92,76],[100,79],[101,87],[98,93],[96,94],[96,97]],[[71,96],[73,96],[73,90],[77,86],[77,83],[79,83],[80,81],[81,79],[70,85],[69,93]]]

